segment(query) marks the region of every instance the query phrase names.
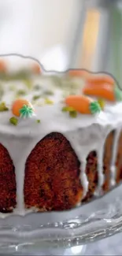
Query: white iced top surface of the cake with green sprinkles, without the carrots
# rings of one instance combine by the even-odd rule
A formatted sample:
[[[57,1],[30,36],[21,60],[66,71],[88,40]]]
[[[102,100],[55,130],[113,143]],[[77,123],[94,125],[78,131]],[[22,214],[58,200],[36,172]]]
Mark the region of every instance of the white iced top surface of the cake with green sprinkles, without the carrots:
[[[100,113],[77,113],[75,118],[63,111],[65,98],[68,95],[81,95],[84,83],[83,77],[65,74],[32,73],[27,70],[1,72],[0,102],[5,102],[9,110],[0,111],[0,131],[15,136],[33,136],[40,131],[43,135],[50,132],[68,132],[91,124],[113,124],[115,127],[121,124],[121,102],[106,102]],[[9,119],[13,117],[12,103],[17,98],[31,102],[35,116],[18,118],[16,126]]]

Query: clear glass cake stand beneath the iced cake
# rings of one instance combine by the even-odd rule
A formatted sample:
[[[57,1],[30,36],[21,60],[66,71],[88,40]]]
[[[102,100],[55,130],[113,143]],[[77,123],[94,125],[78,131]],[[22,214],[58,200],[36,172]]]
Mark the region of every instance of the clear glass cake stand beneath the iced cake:
[[[64,212],[0,219],[0,254],[83,254],[87,243],[122,231],[122,186]]]

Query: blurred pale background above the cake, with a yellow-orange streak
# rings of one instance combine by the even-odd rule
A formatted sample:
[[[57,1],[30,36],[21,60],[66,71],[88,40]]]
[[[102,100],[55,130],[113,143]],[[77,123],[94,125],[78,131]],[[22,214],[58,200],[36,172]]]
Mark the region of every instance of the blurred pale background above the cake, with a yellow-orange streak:
[[[46,69],[112,72],[122,80],[121,0],[0,0],[0,54]]]

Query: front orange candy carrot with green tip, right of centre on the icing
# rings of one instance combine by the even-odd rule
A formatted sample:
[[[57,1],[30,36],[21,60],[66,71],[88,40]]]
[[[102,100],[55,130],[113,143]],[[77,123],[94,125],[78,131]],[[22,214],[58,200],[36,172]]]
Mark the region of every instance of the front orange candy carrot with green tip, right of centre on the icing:
[[[92,98],[88,98],[84,95],[69,95],[65,98],[65,103],[79,113],[94,114],[101,111],[98,102],[94,102]]]

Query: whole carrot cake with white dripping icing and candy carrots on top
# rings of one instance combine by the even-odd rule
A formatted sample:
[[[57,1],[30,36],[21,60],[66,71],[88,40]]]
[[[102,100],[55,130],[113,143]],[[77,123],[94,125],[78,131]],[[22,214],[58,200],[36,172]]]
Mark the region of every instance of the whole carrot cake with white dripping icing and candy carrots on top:
[[[0,212],[61,211],[122,179],[116,81],[87,72],[0,73]]]

